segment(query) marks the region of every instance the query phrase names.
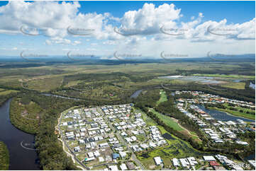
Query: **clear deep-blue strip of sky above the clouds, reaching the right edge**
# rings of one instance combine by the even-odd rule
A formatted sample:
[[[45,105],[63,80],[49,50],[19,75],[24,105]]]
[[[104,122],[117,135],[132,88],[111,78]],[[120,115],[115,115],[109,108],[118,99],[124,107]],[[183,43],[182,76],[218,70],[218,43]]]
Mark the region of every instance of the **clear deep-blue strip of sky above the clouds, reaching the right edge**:
[[[255,1],[81,1],[82,13],[107,13],[122,17],[124,12],[138,10],[145,3],[156,6],[162,4],[175,4],[182,8],[182,20],[190,20],[199,11],[204,13],[204,20],[223,20],[230,23],[244,23],[248,18],[255,18]]]

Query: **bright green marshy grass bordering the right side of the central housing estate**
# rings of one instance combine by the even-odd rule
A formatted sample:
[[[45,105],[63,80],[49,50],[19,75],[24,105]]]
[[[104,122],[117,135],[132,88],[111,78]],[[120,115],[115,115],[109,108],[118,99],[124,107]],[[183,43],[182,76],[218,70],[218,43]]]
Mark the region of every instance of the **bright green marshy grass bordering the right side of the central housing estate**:
[[[141,111],[140,111],[141,112]],[[148,126],[157,126],[161,134],[169,134],[162,126],[157,125],[157,123],[147,116],[144,112],[142,113],[143,120],[146,122]],[[189,156],[199,156],[201,153],[196,149],[192,148],[191,145],[176,136],[172,135],[172,139],[166,139],[168,145],[165,147],[157,148],[153,151],[145,152],[143,154],[138,155],[138,159],[147,167],[147,169],[160,169],[155,167],[155,162],[153,160],[154,157],[160,156],[163,160],[165,166],[172,165],[172,158],[185,158]]]

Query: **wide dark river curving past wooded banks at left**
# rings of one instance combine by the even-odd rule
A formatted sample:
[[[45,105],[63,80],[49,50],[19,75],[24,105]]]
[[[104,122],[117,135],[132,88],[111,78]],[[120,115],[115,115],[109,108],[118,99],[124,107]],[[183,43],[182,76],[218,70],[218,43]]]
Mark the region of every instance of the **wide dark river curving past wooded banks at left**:
[[[11,124],[10,102],[11,99],[0,107],[0,141],[4,141],[9,150],[9,170],[40,170],[38,155],[33,148],[35,137]]]

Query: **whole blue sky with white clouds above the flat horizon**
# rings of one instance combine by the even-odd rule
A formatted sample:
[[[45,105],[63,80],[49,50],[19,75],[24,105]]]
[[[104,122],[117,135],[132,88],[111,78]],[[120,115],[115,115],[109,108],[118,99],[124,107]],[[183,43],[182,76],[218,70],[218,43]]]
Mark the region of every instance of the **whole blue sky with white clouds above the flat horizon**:
[[[255,54],[255,1],[0,1],[0,57]]]

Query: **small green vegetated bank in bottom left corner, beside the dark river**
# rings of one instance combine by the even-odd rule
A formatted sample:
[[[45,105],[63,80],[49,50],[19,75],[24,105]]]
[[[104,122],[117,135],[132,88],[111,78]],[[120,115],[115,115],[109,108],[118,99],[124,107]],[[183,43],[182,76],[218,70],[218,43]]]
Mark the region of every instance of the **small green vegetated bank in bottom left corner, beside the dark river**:
[[[9,151],[6,145],[0,141],[0,170],[9,170]]]

